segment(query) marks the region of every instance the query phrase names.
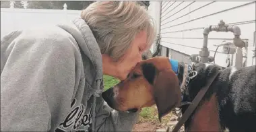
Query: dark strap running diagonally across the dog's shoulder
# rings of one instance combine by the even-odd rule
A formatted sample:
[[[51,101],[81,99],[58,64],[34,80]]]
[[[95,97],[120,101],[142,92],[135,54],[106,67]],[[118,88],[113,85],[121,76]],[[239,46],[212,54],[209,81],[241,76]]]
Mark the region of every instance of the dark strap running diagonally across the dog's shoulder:
[[[179,131],[179,129],[181,129],[181,126],[187,121],[187,119],[189,119],[190,115],[195,110],[195,108],[197,107],[197,105],[199,104],[199,102],[201,101],[201,99],[203,98],[205,93],[207,92],[207,90],[210,88],[210,86],[212,85],[212,82],[217,77],[219,72],[220,71],[218,71],[212,78],[210,78],[207,82],[207,85],[204,86],[203,88],[201,88],[201,90],[197,93],[197,96],[195,96],[192,104],[189,105],[189,107],[187,108],[187,110],[185,111],[183,116],[181,117],[181,120],[177,123],[177,125],[174,127],[172,132]]]

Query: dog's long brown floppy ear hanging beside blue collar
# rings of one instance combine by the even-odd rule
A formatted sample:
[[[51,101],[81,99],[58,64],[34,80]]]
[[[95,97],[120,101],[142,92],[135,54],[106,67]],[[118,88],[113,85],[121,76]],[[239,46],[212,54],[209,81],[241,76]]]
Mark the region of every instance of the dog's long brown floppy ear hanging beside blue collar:
[[[168,114],[181,103],[179,79],[172,69],[160,71],[154,80],[154,100],[158,108],[158,119]]]

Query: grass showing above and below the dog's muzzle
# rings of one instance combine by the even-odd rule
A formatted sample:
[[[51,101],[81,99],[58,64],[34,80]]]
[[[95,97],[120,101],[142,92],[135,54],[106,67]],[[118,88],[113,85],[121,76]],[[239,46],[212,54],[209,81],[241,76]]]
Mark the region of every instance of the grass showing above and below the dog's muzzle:
[[[120,82],[119,79],[115,79],[115,77],[110,77],[108,75],[104,75],[103,80],[104,80],[104,90],[108,90],[108,88],[111,88]],[[169,119],[168,117],[169,116],[166,116],[165,118],[163,118],[162,122],[168,121]],[[139,113],[138,123],[145,123],[145,122],[158,123],[158,111],[155,106],[142,108],[141,112]]]

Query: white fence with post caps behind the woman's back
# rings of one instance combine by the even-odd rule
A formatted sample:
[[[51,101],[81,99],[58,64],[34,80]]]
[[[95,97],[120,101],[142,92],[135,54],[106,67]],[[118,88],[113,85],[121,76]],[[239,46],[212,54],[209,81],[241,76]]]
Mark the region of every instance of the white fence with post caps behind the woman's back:
[[[1,8],[1,38],[13,30],[59,24],[69,22],[80,15],[81,11],[67,10],[67,5],[61,9],[15,9]]]

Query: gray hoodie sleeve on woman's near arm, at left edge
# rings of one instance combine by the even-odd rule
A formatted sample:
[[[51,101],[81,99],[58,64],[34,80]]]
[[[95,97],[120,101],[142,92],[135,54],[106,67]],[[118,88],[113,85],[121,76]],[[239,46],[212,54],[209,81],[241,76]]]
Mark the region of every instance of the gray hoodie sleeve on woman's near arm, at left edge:
[[[68,37],[41,32],[1,40],[1,131],[50,131],[70,110],[74,47]]]

